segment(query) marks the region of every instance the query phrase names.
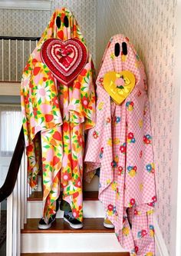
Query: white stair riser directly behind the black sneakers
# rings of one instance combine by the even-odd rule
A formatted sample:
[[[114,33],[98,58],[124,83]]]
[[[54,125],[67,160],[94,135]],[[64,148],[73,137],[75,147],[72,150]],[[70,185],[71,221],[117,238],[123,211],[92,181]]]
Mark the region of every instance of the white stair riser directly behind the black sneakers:
[[[84,218],[104,218],[105,212],[100,201],[84,201]],[[41,218],[43,212],[42,201],[28,201],[28,218]],[[63,211],[58,211],[57,218],[63,218]]]

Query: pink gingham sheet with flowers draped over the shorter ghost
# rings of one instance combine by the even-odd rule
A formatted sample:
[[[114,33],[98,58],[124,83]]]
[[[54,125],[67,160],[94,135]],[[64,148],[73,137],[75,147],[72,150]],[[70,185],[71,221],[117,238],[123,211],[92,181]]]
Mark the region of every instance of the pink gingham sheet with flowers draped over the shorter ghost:
[[[127,43],[123,55],[122,43]],[[120,55],[114,55],[115,44]],[[136,84],[121,105],[103,87],[108,71],[131,71]],[[87,135],[87,178],[100,167],[99,198],[123,248],[130,254],[154,255],[155,170],[143,63],[129,39],[110,38],[97,76],[97,124]]]

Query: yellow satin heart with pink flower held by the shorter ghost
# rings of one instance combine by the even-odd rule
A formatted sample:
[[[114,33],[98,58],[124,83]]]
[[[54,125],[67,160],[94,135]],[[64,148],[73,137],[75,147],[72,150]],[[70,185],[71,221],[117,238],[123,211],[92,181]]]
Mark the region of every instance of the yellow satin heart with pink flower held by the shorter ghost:
[[[117,105],[120,105],[133,90],[135,76],[128,70],[123,70],[120,73],[109,71],[104,75],[103,85],[110,97]]]

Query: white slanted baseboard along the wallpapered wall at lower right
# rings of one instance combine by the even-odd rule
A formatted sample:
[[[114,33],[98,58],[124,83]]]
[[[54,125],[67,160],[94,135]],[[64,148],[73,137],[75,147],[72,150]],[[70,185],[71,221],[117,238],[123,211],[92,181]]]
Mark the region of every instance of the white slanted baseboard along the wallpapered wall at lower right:
[[[166,243],[163,239],[162,232],[160,230],[158,221],[156,221],[156,217],[154,216],[154,227],[155,227],[155,241],[156,246],[159,250],[160,256],[169,256],[168,250],[166,248]]]

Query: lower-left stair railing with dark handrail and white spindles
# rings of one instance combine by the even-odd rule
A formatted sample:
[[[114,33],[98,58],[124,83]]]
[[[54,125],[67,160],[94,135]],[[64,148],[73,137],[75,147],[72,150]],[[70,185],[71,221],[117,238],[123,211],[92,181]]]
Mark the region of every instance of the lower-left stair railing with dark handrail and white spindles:
[[[21,253],[21,228],[27,219],[27,196],[25,138],[21,128],[5,183],[0,188],[0,202],[7,198],[6,256]]]

